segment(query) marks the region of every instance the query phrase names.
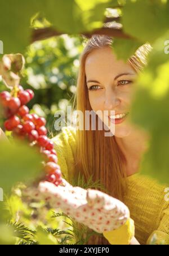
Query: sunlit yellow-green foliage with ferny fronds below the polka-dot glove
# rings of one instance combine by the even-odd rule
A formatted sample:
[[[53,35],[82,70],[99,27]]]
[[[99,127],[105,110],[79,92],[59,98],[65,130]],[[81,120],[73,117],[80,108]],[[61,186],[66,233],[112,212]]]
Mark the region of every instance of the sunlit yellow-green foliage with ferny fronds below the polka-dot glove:
[[[79,182],[84,185],[83,181]],[[0,223],[0,234],[5,233],[5,236],[0,236],[0,244],[80,245],[86,244],[94,234],[101,236],[59,209],[56,212],[48,210],[47,205],[42,203],[24,202],[19,187],[6,198],[4,204],[7,223]]]

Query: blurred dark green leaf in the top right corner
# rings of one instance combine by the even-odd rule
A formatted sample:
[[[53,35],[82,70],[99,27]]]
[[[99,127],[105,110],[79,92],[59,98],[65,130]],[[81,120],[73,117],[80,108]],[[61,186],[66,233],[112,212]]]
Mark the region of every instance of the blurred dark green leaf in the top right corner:
[[[168,5],[163,1],[128,0],[123,7],[124,32],[141,41],[154,42],[168,30]]]

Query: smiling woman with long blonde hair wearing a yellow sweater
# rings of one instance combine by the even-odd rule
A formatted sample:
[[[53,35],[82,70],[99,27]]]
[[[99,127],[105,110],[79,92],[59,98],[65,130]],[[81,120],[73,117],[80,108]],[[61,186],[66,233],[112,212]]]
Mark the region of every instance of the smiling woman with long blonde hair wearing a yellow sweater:
[[[100,180],[106,193],[124,202],[135,221],[135,237],[140,244],[149,244],[153,234],[157,244],[169,244],[169,207],[164,200],[164,187],[139,174],[141,157],[149,135],[130,123],[130,106],[135,79],[146,64],[149,45],[143,45],[127,63],[115,58],[112,39],[94,35],[83,50],[77,79],[76,109],[108,111],[108,122],[114,136],[104,130],[75,130],[64,127],[53,138],[58,164],[70,183],[81,172],[88,180]],[[95,80],[95,82],[94,82]],[[111,110],[122,116],[110,116]],[[115,120],[114,120],[115,118]],[[84,120],[85,121],[85,120]],[[112,130],[112,133],[114,130]],[[154,221],[155,220],[155,221]],[[109,244],[104,237],[91,237],[88,244]],[[136,240],[131,244],[138,244]]]

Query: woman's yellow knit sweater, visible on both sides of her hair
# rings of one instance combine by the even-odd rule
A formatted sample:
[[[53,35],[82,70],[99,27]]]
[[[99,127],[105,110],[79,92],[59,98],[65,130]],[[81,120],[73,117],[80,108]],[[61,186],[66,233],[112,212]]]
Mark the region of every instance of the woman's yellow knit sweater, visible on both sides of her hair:
[[[76,137],[73,127],[64,127],[52,139],[58,156],[58,164],[66,180],[74,175]],[[165,187],[148,176],[134,174],[127,177],[127,194],[124,203],[135,221],[135,237],[140,244],[150,244],[156,234],[156,244],[169,244],[169,202],[164,200]]]

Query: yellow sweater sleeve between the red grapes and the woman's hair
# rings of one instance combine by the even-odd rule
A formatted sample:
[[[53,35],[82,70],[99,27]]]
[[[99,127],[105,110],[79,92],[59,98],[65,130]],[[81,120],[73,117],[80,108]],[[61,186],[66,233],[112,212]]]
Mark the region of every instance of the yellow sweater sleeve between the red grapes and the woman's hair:
[[[63,127],[61,132],[52,138],[52,141],[55,143],[58,164],[63,178],[71,182],[75,171],[75,128],[72,126]]]

